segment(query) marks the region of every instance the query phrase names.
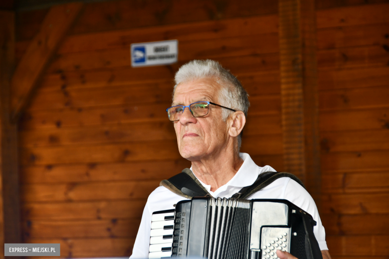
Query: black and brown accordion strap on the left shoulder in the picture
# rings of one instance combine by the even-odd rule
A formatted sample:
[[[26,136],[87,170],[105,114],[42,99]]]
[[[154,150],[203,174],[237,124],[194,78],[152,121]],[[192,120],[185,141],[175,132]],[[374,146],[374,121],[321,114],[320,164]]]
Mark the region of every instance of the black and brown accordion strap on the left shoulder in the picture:
[[[181,173],[169,178],[169,180],[162,180],[160,186],[165,186],[172,192],[187,199],[211,196],[198,182],[189,168],[185,168]]]

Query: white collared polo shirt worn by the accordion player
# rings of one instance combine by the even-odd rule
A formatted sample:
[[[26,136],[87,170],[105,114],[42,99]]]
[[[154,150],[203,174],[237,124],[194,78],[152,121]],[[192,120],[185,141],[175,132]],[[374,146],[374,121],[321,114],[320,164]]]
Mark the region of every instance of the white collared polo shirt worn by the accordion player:
[[[230,198],[241,188],[252,185],[260,173],[275,171],[268,165],[264,167],[257,166],[247,153],[240,153],[239,155],[243,159],[243,164],[234,177],[216,191],[211,192],[210,185],[206,185],[198,180],[213,197]],[[311,195],[296,181],[288,177],[281,177],[254,193],[249,199],[285,199],[305,210],[317,222],[313,232],[319,243],[320,250],[328,250],[326,234],[316,204]],[[148,258],[149,256],[151,216],[153,212],[174,209],[173,205],[182,200],[186,199],[163,186],[158,187],[150,194],[143,211],[141,225],[139,226],[130,259]]]

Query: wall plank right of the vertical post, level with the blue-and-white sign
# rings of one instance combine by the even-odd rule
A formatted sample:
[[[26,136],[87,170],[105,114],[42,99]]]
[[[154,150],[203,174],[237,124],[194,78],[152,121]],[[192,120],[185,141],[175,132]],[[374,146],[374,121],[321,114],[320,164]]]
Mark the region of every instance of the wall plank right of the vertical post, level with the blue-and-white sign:
[[[358,68],[370,66],[386,66],[389,52],[385,47],[359,46],[336,49],[322,49],[317,52],[319,68]]]

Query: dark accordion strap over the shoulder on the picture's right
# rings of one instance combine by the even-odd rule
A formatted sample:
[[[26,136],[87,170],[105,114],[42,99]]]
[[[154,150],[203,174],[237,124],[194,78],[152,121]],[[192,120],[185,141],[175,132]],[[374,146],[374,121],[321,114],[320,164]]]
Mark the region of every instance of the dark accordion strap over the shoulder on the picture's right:
[[[294,174],[287,172],[263,172],[258,175],[258,178],[252,185],[243,187],[239,192],[232,195],[231,198],[246,199],[281,177],[289,177],[298,182],[301,186],[304,187],[304,189],[306,189],[303,182]]]

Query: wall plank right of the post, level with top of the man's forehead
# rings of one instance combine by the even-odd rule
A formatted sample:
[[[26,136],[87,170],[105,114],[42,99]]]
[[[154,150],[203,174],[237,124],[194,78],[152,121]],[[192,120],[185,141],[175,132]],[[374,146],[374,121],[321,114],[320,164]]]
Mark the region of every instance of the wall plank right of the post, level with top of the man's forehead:
[[[320,69],[319,90],[362,88],[389,85],[389,67]]]

